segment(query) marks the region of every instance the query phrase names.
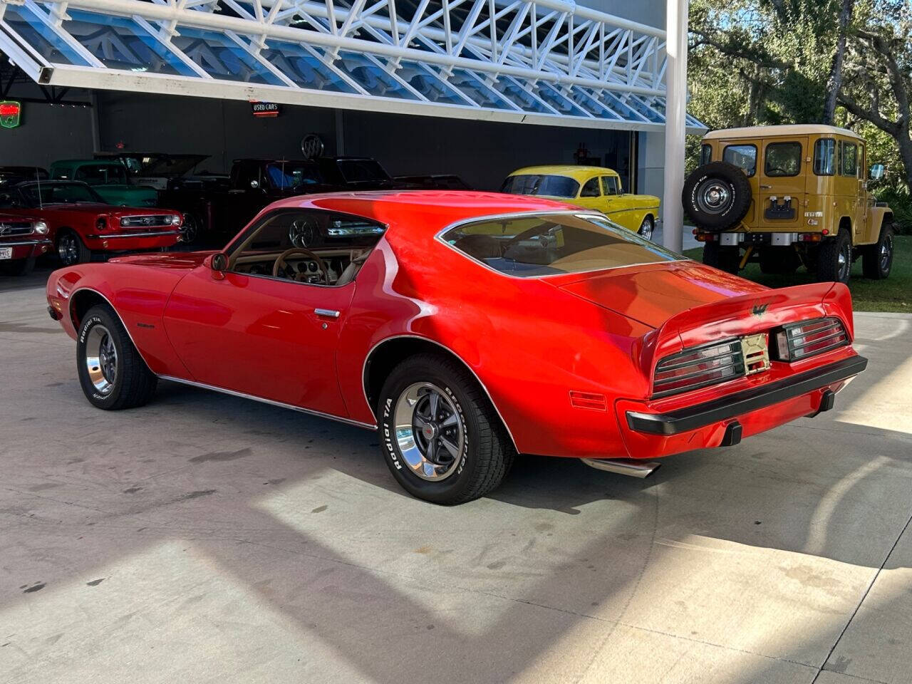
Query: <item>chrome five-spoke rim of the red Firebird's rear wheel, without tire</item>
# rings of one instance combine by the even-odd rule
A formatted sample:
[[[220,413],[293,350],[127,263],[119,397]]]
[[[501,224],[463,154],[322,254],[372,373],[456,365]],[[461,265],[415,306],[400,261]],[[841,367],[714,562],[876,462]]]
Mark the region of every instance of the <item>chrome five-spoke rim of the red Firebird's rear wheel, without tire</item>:
[[[393,413],[402,460],[422,480],[446,480],[460,463],[465,424],[452,399],[430,382],[403,390]]]

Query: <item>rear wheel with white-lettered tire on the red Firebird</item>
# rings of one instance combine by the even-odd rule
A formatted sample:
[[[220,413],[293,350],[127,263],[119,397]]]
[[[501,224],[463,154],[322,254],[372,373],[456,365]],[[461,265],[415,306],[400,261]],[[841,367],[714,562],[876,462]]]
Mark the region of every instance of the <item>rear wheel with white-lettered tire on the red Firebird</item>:
[[[478,499],[513,464],[513,445],[490,399],[450,358],[421,354],[400,363],[380,391],[378,416],[389,471],[424,501]]]

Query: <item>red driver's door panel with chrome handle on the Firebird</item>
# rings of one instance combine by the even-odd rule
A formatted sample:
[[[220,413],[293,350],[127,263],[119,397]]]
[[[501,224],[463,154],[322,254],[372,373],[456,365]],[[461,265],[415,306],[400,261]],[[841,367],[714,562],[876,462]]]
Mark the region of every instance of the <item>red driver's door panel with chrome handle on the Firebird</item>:
[[[201,266],[171,294],[165,328],[192,380],[345,417],[336,347],[354,293],[354,283],[308,285]]]

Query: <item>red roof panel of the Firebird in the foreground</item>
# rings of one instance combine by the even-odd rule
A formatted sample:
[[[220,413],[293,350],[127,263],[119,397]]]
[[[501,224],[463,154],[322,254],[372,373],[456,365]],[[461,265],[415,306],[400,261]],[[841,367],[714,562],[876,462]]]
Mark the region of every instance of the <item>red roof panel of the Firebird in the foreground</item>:
[[[389,190],[326,192],[274,202],[269,209],[322,209],[386,223],[396,239],[427,239],[451,223],[527,212],[568,212],[573,207],[529,195],[471,190]],[[579,208],[577,211],[591,213]],[[389,233],[388,233],[389,235]]]

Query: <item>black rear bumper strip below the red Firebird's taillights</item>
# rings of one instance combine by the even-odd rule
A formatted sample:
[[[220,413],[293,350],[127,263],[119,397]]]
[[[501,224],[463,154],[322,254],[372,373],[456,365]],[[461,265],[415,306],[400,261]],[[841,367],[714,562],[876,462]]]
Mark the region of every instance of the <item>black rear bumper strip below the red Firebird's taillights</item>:
[[[834,382],[853,378],[867,366],[864,357],[844,358],[827,366],[799,373],[761,387],[744,389],[721,399],[689,406],[669,413],[637,413],[627,411],[630,430],[654,435],[675,435],[697,430],[720,420],[729,420],[745,413],[778,404],[786,399],[821,389]]]

